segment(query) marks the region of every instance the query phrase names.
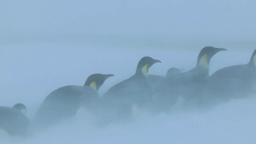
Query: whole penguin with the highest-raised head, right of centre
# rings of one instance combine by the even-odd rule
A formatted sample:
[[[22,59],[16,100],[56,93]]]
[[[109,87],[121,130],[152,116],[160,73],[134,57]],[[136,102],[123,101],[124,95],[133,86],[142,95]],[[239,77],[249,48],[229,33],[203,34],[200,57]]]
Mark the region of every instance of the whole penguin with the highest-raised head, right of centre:
[[[203,97],[204,85],[209,78],[210,59],[217,52],[226,50],[207,46],[202,48],[198,55],[196,67],[187,72],[176,72],[165,77],[157,87],[154,88],[155,109],[157,112],[169,112],[178,97],[184,99],[184,107],[200,105]]]

